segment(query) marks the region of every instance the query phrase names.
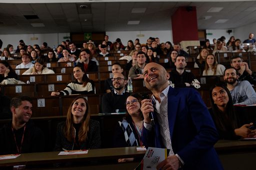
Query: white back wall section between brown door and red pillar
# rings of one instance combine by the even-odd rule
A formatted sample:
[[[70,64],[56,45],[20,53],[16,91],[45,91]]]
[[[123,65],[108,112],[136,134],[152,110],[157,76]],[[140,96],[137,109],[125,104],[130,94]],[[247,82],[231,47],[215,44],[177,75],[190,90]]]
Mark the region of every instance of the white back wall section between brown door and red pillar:
[[[137,37],[137,34],[144,34],[143,37]],[[160,42],[170,41],[172,43],[172,31],[161,30],[161,31],[106,31],[106,35],[109,37],[109,41],[114,42],[116,38],[120,38],[124,46],[127,45],[128,40],[135,41],[136,38],[139,42],[146,43],[146,40],[151,37],[158,37]]]

